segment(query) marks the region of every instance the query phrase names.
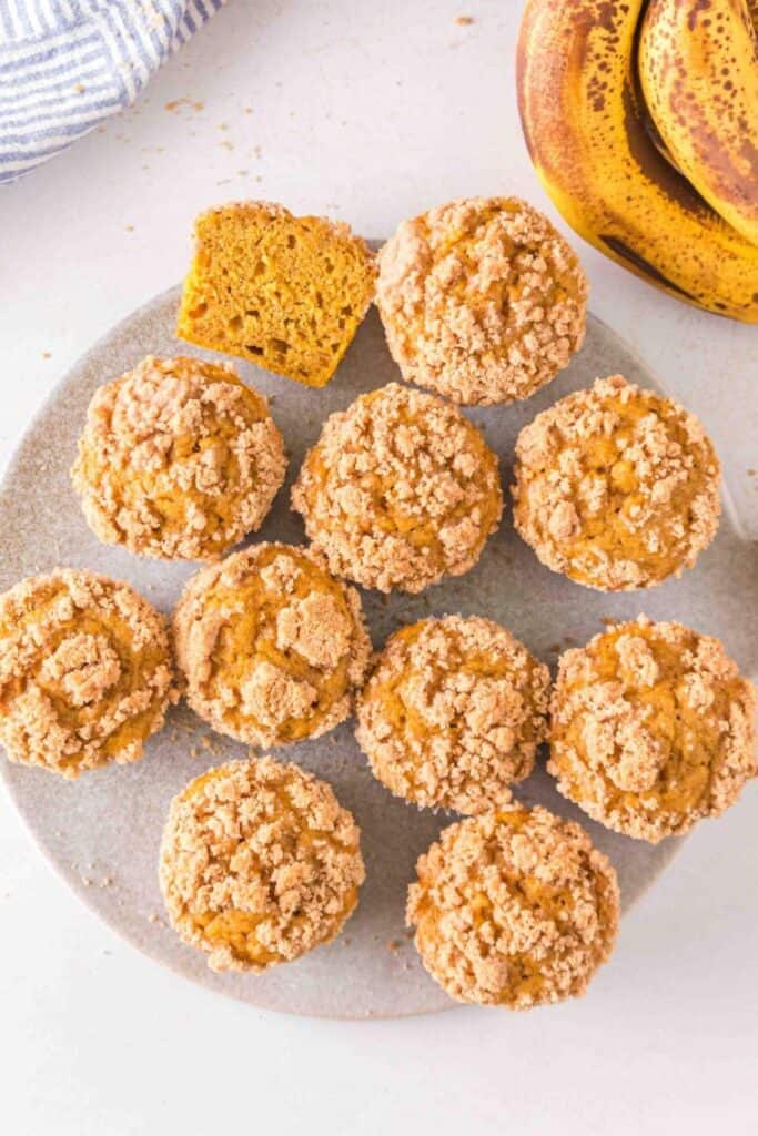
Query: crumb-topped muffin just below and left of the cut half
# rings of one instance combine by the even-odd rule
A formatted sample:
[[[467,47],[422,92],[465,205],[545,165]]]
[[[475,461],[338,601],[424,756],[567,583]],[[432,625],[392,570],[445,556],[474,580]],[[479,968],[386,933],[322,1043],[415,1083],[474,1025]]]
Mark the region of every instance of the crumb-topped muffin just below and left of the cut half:
[[[106,544],[214,560],[260,527],[285,469],[266,400],[230,366],[148,356],[94,394],[72,477]]]

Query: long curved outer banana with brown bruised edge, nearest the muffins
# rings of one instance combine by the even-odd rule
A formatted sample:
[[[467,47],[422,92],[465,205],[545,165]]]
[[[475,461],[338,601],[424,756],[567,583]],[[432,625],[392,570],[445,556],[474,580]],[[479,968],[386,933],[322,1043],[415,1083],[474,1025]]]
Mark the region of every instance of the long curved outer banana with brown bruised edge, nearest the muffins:
[[[566,220],[689,303],[758,323],[758,248],[666,161],[639,101],[643,0],[527,0],[517,48],[522,124]]]

